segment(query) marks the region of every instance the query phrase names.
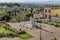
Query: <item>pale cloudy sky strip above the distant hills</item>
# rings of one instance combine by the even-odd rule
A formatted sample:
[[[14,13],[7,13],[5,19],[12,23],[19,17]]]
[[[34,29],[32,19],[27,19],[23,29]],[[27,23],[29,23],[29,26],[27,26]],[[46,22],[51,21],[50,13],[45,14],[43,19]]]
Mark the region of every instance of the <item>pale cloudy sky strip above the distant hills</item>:
[[[0,2],[44,2],[44,1],[60,1],[60,0],[0,0]]]

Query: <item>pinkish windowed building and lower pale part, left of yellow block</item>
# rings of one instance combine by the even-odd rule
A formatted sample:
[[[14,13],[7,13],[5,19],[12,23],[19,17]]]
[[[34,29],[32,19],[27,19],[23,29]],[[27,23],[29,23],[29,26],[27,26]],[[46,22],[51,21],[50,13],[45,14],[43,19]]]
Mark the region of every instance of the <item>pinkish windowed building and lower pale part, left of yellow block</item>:
[[[49,18],[51,15],[51,8],[50,7],[44,7],[40,10],[40,13],[34,14],[34,18]]]

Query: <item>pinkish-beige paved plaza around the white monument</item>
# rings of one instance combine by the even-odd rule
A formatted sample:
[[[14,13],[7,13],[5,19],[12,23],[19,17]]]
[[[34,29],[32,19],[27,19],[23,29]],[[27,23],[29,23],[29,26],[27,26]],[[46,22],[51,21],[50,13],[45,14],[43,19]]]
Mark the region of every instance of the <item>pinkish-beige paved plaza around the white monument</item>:
[[[43,24],[41,23],[41,30],[40,28],[27,28],[24,25],[28,24],[29,22],[20,22],[20,23],[9,23],[11,25],[12,28],[15,28],[17,30],[20,30],[20,28],[22,30],[26,30],[27,33],[31,34],[33,37],[29,38],[27,40],[40,40],[40,36],[42,40],[51,40],[53,38],[57,38],[58,40],[60,40],[60,28],[56,28],[52,25],[48,25],[48,24]],[[39,23],[36,23],[38,26],[40,26]],[[40,35],[40,31],[41,31],[41,35]],[[20,38],[16,37],[16,38],[0,38],[0,40],[21,40]]]

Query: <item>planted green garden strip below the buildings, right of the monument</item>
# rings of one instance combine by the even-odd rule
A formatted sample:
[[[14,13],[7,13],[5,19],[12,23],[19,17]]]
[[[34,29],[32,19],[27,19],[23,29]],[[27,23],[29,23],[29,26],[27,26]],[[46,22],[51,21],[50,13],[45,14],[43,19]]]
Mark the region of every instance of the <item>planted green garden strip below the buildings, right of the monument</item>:
[[[60,22],[58,22],[58,21],[35,19],[35,22],[49,24],[49,25],[53,25],[55,27],[60,27]]]

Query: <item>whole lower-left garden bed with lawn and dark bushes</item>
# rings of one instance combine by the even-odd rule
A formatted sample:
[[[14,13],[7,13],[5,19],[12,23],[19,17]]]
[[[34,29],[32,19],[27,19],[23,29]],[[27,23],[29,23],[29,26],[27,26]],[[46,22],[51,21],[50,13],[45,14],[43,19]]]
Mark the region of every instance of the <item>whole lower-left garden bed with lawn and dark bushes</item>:
[[[9,24],[3,24],[0,26],[0,38],[2,37],[28,39],[31,38],[32,35],[28,34],[26,31],[17,31],[16,29],[11,28]]]

